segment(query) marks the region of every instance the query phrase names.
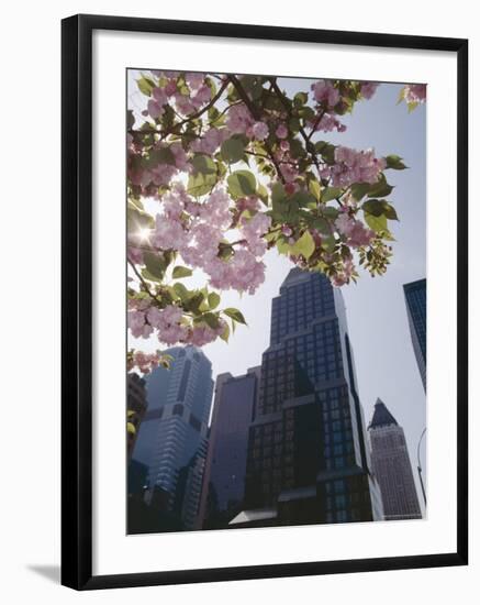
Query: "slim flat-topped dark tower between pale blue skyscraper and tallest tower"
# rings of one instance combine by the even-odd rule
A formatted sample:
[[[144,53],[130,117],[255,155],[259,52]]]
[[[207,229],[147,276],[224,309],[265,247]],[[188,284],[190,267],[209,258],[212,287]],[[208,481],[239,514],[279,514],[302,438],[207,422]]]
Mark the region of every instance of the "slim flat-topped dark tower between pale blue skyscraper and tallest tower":
[[[245,494],[248,430],[254,420],[260,367],[242,376],[216,377],[203,479],[199,526],[221,529],[242,510]]]

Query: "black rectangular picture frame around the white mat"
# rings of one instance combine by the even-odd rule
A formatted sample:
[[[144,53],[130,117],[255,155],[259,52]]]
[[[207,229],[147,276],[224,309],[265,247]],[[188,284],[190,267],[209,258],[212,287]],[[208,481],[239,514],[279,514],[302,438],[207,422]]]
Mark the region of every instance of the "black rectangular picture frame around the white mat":
[[[92,32],[115,30],[443,51],[457,56],[457,549],[455,552],[92,575]],[[468,561],[468,42],[232,23],[75,15],[62,22],[62,583],[76,590],[465,565]]]

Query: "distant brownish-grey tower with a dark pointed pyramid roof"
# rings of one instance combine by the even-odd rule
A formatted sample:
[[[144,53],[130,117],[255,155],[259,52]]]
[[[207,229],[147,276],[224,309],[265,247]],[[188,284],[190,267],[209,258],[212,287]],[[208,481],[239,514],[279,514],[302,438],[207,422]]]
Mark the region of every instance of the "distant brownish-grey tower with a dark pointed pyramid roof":
[[[373,472],[380,485],[386,520],[421,519],[422,512],[403,428],[381,399],[368,427]]]

